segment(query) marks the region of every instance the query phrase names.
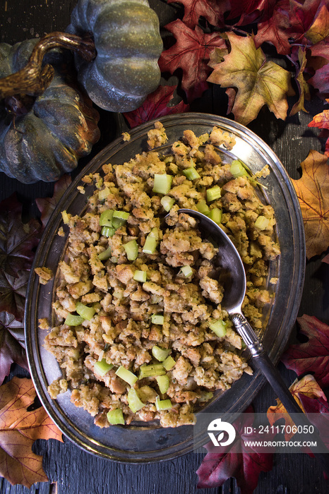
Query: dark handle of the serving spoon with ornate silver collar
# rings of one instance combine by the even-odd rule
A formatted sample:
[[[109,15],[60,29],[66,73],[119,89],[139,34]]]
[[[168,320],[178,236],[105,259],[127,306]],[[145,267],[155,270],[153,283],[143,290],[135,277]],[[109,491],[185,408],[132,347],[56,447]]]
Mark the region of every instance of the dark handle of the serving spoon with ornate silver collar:
[[[289,391],[285,381],[282,379],[280,372],[273,365],[270,357],[266,353],[263,345],[259,341],[256,333],[253,331],[253,328],[248,323],[246,318],[242,313],[234,313],[231,314],[232,322],[239,332],[239,335],[244,340],[246,346],[251,351],[251,356],[253,357],[253,361],[256,366],[261,370],[265,378],[270,383],[273,391],[277,395],[277,397],[281,400],[283,406],[287,410],[289,415],[292,415],[292,420],[294,421],[296,426],[307,426],[306,430],[309,430],[309,426],[311,426],[311,422],[304,414],[304,411],[301,409],[297,401],[292,396]],[[304,435],[305,439],[310,439],[312,441],[317,442],[317,452],[314,452],[315,457],[321,462],[325,473],[329,474],[329,452],[323,440],[321,440],[320,435],[318,433],[314,433],[312,437],[308,435]],[[312,448],[311,448],[312,449]],[[321,450],[321,452],[318,452]]]

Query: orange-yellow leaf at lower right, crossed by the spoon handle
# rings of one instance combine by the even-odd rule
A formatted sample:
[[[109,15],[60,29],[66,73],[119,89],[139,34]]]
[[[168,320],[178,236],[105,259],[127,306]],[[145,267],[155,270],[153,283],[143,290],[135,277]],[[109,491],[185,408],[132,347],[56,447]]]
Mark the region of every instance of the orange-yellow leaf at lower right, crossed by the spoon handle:
[[[325,402],[327,401],[323,390],[321,390],[321,387],[318,385],[315,378],[313,378],[313,375],[311,374],[304,375],[304,378],[301,378],[301,380],[295,380],[289,387],[289,390],[299,406],[301,406],[301,409],[304,410],[304,412],[306,410],[304,409],[304,406],[301,403],[301,399],[299,398],[300,394],[304,394],[304,396],[307,396],[309,398],[318,398],[323,399]],[[294,432],[292,432],[292,426],[294,426],[294,422],[292,421],[292,418],[287,415],[285,406],[282,405],[280,399],[277,398],[277,404],[268,408],[267,416],[271,426],[273,426],[273,424],[280,418],[285,419],[286,425],[290,426],[290,428],[285,428],[285,440],[289,441],[289,439],[292,438],[292,436],[294,435]],[[288,430],[289,432],[287,432]]]

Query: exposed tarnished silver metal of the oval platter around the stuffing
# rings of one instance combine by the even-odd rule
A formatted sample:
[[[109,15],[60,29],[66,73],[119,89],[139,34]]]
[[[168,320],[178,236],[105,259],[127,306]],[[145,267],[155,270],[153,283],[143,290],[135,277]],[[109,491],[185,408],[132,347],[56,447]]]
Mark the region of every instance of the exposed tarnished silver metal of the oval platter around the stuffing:
[[[83,198],[83,195],[77,191],[81,178],[85,174],[100,170],[102,164],[112,162],[113,156],[118,154],[123,157],[126,156],[112,162],[112,164],[121,164],[121,162],[134,157],[137,152],[148,150],[146,147],[147,132],[153,128],[155,121],[163,123],[169,137],[169,143],[178,140],[185,129],[195,130],[197,135],[201,135],[211,131],[213,126],[219,126],[225,131],[234,133],[239,143],[237,147],[242,146],[243,148],[244,143],[247,143],[247,147],[250,148],[251,156],[246,158],[237,155],[236,152],[239,150],[234,146],[233,150],[226,152],[229,157],[240,157],[251,166],[253,171],[256,171],[253,168],[255,164],[257,169],[261,169],[266,163],[270,166],[270,178],[262,180],[262,183],[274,181],[278,186],[278,188],[268,190],[265,196],[275,207],[277,234],[282,254],[280,255],[280,263],[276,267],[280,271],[281,279],[275,291],[275,301],[270,311],[269,325],[265,330],[263,344],[268,349],[274,363],[279,361],[288,342],[297,317],[304,286],[306,258],[304,227],[294,187],[275,153],[248,128],[225,117],[212,114],[174,114],[148,121],[133,128],[129,132],[131,135],[129,141],[123,142],[122,138],[118,138],[104,147],[104,150],[80,171],[64,193],[49,219],[37,248],[30,272],[28,296],[25,304],[25,341],[32,380],[44,408],[54,423],[67,438],[83,450],[99,457],[123,463],[152,463],[173,459],[191,452],[193,447],[204,445],[205,442],[208,442],[208,435],[204,431],[198,437],[193,438],[193,426],[160,428],[154,424],[150,427],[143,424],[138,427],[112,426],[100,429],[93,425],[93,419],[88,412],[77,409],[69,402],[68,392],[60,395],[59,399],[52,400],[47,393],[47,385],[52,381],[52,379],[49,380],[49,374],[52,374],[53,370],[57,371],[59,366],[54,357],[42,348],[42,340],[46,332],[38,328],[37,321],[39,318],[45,317],[44,314],[49,317],[49,312],[52,312],[51,303],[56,277],[55,281],[41,285],[34,270],[35,267],[49,264],[53,264],[52,267],[56,269],[56,265],[63,255],[64,244],[66,245],[66,240],[57,235],[59,226],[62,224],[61,211],[65,209],[68,212],[73,212],[73,214],[81,212],[80,205],[76,207],[77,198],[79,200]],[[137,150],[134,148],[135,145]],[[125,154],[127,148],[128,153]],[[255,159],[258,159],[259,163],[254,162]],[[78,210],[75,211],[76,209]],[[282,279],[282,275],[285,275],[284,279]],[[282,311],[281,303],[284,304],[284,311]],[[273,332],[275,332],[274,342]],[[263,376],[258,371],[255,371],[253,376],[244,374],[240,380],[232,385],[230,390],[205,406],[203,411],[209,413],[225,412],[227,416],[244,411],[264,382]]]

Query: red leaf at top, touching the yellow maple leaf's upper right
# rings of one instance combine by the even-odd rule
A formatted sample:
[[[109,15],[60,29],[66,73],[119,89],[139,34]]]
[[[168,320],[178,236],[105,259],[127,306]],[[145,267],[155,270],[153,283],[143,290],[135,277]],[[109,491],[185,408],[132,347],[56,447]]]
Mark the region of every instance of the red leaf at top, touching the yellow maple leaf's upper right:
[[[256,48],[268,42],[275,46],[277,53],[289,54],[289,0],[279,0],[275,4],[273,16],[257,25],[257,34],[254,36]]]

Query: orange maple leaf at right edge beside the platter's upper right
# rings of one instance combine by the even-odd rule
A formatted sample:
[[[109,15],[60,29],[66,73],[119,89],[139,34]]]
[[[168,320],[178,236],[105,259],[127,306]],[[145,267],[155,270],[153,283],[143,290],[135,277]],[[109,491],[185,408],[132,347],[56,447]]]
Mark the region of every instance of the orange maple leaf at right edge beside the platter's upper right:
[[[329,246],[328,157],[311,150],[301,162],[301,179],[292,180],[303,215],[306,256],[321,254]]]

